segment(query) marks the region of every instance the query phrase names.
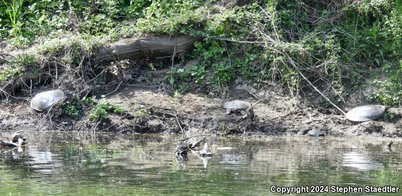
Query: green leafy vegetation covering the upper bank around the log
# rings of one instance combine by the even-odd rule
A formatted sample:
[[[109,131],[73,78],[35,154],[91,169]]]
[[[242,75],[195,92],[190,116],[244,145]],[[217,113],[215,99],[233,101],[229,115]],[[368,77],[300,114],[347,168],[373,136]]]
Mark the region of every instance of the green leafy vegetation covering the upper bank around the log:
[[[33,46],[27,52],[35,56],[31,65],[38,59],[59,59],[60,66],[80,73],[93,69],[83,54],[91,56],[119,39],[190,34],[205,39],[175,61],[178,65],[171,66],[170,59],[147,62],[149,67],[171,67],[165,80],[180,92],[194,82],[222,94],[241,79],[279,84],[283,92],[298,97],[308,85],[292,67],[295,64],[335,103],[348,98],[346,83],[354,90],[374,87],[366,97],[373,103],[396,105],[402,97],[400,0],[269,0],[241,7],[201,0],[2,1],[0,39],[8,50]],[[27,64],[13,58],[0,62],[0,81],[29,73]],[[184,68],[189,60],[197,63]],[[71,75],[91,79],[101,74],[91,71]],[[102,73],[90,81],[103,85],[114,80],[105,77]],[[325,100],[320,103],[330,106]],[[106,112],[99,106],[93,118],[104,119]]]

